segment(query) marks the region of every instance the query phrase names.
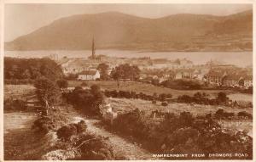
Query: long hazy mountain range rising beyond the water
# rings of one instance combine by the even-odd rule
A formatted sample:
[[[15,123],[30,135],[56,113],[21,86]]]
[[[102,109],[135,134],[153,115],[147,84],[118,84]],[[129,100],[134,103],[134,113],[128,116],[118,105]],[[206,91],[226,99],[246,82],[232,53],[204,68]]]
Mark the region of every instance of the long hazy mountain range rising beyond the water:
[[[148,19],[108,12],[55,20],[5,43],[6,50],[115,48],[148,51],[252,50],[253,11],[228,16],[173,14]]]

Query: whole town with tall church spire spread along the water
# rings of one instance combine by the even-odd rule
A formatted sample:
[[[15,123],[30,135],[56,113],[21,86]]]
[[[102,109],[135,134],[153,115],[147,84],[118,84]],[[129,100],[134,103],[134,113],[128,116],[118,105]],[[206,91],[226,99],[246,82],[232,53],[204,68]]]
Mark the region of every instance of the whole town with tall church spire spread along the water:
[[[49,58],[55,59],[54,55]],[[241,68],[233,64],[221,64],[217,60],[209,60],[206,64],[193,64],[189,59],[150,59],[119,58],[107,55],[96,55],[95,43],[92,42],[91,55],[86,58],[55,59],[61,65],[64,75],[79,81],[101,80],[99,65],[106,66],[107,75],[119,64],[135,65],[140,70],[137,81],[161,83],[168,80],[189,79],[207,83],[213,87],[253,87],[253,68]],[[130,78],[121,78],[130,80]]]

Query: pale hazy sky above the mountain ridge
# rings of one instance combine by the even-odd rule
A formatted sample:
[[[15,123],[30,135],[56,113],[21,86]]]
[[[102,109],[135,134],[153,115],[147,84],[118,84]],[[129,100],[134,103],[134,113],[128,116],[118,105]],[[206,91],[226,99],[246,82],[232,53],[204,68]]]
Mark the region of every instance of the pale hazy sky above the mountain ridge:
[[[73,14],[117,11],[147,18],[169,14],[227,15],[252,9],[252,4],[5,4],[6,42]]]

